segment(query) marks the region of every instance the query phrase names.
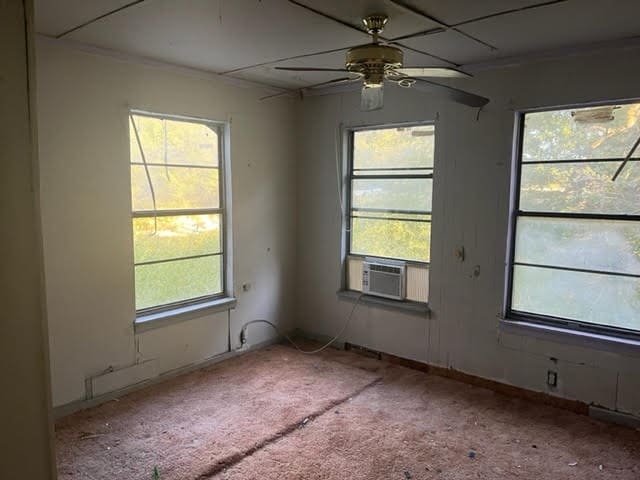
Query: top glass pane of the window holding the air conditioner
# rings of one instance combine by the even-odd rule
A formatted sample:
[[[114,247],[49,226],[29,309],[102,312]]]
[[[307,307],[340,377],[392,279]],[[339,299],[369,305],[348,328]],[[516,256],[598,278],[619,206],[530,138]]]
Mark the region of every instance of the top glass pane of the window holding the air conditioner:
[[[354,132],[353,168],[433,167],[434,138],[433,125]]]

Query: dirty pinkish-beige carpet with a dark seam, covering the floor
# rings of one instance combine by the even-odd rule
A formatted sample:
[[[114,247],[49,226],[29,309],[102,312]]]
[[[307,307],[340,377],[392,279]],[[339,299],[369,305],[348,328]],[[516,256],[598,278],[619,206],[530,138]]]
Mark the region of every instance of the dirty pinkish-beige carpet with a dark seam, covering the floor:
[[[640,479],[638,431],[335,350],[255,352],[58,441],[63,479]]]

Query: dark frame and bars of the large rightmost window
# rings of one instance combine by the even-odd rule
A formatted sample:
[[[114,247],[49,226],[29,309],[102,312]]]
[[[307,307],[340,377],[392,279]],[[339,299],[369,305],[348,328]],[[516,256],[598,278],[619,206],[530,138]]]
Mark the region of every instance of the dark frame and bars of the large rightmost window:
[[[611,220],[611,221],[631,221],[640,222],[640,215],[629,214],[602,214],[602,213],[568,213],[568,212],[523,212],[520,210],[520,194],[521,194],[521,181],[522,181],[522,155],[524,146],[524,129],[525,129],[525,117],[529,113],[540,112],[554,112],[558,110],[568,110],[572,108],[590,108],[601,107],[608,105],[627,105],[631,103],[638,103],[640,99],[624,99],[624,100],[605,100],[599,102],[579,103],[570,105],[550,106],[543,108],[523,109],[515,112],[515,135],[514,135],[514,148],[512,155],[512,168],[510,177],[510,212],[509,212],[509,230],[508,230],[508,248],[507,248],[507,262],[506,262],[506,288],[504,290],[504,314],[503,318],[507,321],[524,322],[529,324],[537,324],[540,326],[559,328],[571,333],[576,334],[594,334],[603,335],[605,337],[613,337],[628,340],[640,340],[640,329],[633,330],[623,327],[616,327],[612,325],[603,325],[590,323],[580,320],[568,319],[563,317],[555,317],[550,315],[543,315],[531,312],[522,312],[514,310],[512,308],[513,299],[513,277],[515,254],[516,254],[516,235],[517,235],[517,221],[520,217],[529,218],[553,218],[553,219],[575,219],[575,220]],[[633,157],[632,157],[633,158]],[[607,158],[607,159],[578,159],[578,160],[545,160],[545,164],[562,164],[562,163],[595,163],[595,162],[618,162],[622,163],[624,158]],[[640,159],[638,160],[640,161]],[[540,161],[540,163],[543,163]],[[562,271],[580,271],[585,273],[601,274],[599,270],[588,269],[572,269],[572,268],[557,268]],[[609,275],[617,275],[615,272],[606,272]],[[624,275],[640,278],[640,275]]]

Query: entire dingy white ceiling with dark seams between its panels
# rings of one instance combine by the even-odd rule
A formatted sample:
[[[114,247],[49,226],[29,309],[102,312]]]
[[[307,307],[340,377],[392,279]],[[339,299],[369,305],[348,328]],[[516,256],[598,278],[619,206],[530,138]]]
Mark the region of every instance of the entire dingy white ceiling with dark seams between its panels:
[[[358,31],[367,13],[389,16],[383,33],[389,39],[445,24],[440,33],[399,41],[406,66],[464,68],[640,32],[640,0],[565,0],[475,21],[549,0],[296,1],[318,12],[289,0],[35,0],[36,29],[51,37],[285,88],[342,76],[273,67],[341,68],[347,47],[369,41]],[[114,13],[106,15],[109,12]]]

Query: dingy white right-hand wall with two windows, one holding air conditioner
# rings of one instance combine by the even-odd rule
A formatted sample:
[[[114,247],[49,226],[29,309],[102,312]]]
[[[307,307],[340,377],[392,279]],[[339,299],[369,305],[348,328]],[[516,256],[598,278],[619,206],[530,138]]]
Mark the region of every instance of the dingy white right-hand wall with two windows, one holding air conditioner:
[[[640,415],[640,349],[624,353],[499,329],[505,284],[513,109],[640,97],[638,51],[601,53],[478,73],[460,81],[491,98],[476,110],[420,92],[387,89],[382,111],[358,93],[310,97],[299,107],[298,326],[333,335],[351,303],[339,300],[340,215],[336,129],[436,121],[431,319],[359,306],[346,340],[485,378]],[[464,246],[466,261],[454,251]],[[480,276],[474,278],[474,266]],[[550,359],[554,357],[557,363]]]

